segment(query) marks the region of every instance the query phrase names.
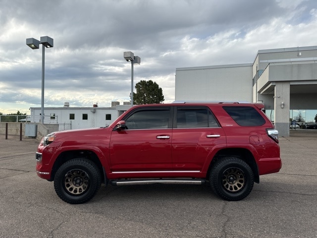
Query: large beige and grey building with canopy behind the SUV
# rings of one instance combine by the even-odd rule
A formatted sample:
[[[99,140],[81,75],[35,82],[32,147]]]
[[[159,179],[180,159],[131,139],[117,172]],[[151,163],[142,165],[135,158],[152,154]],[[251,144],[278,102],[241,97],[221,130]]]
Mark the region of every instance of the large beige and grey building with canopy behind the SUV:
[[[288,136],[295,110],[317,114],[317,46],[259,50],[253,63],[176,68],[175,100],[264,103]]]

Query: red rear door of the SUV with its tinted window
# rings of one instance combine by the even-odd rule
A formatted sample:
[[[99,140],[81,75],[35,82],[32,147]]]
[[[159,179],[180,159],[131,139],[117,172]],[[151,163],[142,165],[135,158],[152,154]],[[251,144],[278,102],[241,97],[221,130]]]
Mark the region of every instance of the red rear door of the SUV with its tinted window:
[[[199,172],[211,151],[224,146],[225,133],[209,108],[175,108],[172,138],[173,170]]]

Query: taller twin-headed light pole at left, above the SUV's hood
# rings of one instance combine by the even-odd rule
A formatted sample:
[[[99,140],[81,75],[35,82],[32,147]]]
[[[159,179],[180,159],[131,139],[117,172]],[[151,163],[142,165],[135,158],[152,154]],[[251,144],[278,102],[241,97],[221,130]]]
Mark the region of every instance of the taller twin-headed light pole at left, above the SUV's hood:
[[[26,45],[28,45],[32,50],[36,50],[40,48],[40,44],[42,44],[42,97],[41,97],[41,124],[44,124],[44,65],[45,65],[45,47],[52,48],[53,47],[53,38],[48,36],[41,36],[40,41],[34,38],[27,38]]]

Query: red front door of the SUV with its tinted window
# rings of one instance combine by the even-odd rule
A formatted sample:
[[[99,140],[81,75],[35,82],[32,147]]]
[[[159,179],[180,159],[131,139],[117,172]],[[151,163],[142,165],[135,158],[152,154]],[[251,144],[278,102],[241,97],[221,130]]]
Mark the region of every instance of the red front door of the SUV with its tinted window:
[[[137,108],[110,139],[112,172],[171,171],[170,107]]]

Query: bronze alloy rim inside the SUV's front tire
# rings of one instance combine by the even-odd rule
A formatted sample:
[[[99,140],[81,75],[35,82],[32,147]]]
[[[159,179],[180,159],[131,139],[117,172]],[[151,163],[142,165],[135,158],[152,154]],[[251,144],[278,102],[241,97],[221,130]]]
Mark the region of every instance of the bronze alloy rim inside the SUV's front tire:
[[[70,170],[65,174],[64,186],[72,195],[80,195],[89,187],[89,176],[80,169]]]

